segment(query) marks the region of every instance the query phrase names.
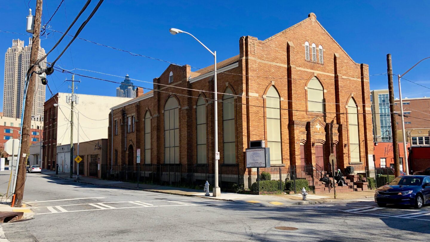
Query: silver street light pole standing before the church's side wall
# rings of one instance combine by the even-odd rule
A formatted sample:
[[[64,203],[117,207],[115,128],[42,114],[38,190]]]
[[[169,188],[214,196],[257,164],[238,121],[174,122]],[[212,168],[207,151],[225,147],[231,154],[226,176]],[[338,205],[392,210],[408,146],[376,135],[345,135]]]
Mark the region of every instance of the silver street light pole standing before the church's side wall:
[[[203,47],[205,47],[206,50],[208,50],[213,56],[214,56],[214,133],[215,133],[215,137],[214,137],[214,141],[215,141],[215,184],[214,184],[214,188],[212,190],[212,196],[214,197],[218,197],[221,195],[221,189],[218,186],[218,160],[219,160],[219,152],[218,152],[218,89],[217,89],[217,80],[216,80],[216,76],[217,76],[217,69],[216,69],[216,51],[212,52],[211,50],[209,50],[208,47],[206,47],[206,45],[204,45],[202,42],[200,42],[200,40],[198,40],[196,37],[194,37],[194,35],[182,31],[180,29],[177,28],[170,28],[169,30],[170,34],[179,34],[179,33],[184,33],[184,34],[188,34],[191,37],[193,37],[195,40],[197,40],[197,42],[199,42]]]

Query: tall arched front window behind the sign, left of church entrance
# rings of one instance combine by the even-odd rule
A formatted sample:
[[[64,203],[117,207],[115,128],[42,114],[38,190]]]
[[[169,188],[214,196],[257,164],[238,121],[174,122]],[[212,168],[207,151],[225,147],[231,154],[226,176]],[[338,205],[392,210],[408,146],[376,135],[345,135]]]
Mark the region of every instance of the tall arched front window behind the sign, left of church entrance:
[[[275,87],[271,86],[266,94],[267,147],[270,148],[270,163],[281,164],[281,116],[280,98]]]

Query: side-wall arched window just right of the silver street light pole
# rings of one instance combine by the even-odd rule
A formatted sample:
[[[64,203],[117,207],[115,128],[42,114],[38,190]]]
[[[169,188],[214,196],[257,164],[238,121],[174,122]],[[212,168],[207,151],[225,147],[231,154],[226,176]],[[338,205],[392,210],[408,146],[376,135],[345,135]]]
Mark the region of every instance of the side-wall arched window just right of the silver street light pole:
[[[236,163],[236,135],[234,122],[234,96],[230,88],[224,92],[222,98],[222,120],[224,133],[224,164]]]

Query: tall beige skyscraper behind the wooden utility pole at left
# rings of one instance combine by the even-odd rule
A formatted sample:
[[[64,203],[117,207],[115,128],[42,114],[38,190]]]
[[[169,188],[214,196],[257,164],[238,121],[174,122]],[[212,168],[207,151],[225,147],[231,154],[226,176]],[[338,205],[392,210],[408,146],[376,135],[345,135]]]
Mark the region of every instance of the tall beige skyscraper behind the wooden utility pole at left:
[[[6,50],[4,56],[4,89],[3,89],[3,113],[5,117],[21,118],[22,100],[24,98],[24,82],[27,70],[30,67],[30,54],[32,39],[28,38],[28,46],[24,47],[23,40],[12,40],[12,47]],[[37,58],[45,55],[45,50],[39,47]],[[40,62],[40,68],[46,67],[46,59]],[[40,69],[37,68],[37,71]],[[37,75],[37,74],[36,74]],[[32,117],[38,117],[43,121],[43,103],[45,102],[45,86],[37,75],[34,90],[34,105]]]

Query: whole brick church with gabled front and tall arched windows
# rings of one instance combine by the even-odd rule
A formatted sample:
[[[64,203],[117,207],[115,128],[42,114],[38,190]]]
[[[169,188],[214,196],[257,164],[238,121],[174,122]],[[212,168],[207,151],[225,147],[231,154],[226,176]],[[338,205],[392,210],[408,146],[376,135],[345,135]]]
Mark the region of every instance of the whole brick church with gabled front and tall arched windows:
[[[373,164],[369,66],[346,53],[313,13],[266,40],[239,38],[218,68],[219,163],[245,168],[251,140],[271,166]],[[169,65],[154,90],[111,109],[108,162],[213,167],[213,66]],[[331,138],[332,137],[332,138]],[[113,142],[113,144],[112,144]]]

